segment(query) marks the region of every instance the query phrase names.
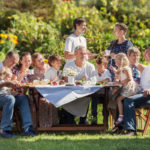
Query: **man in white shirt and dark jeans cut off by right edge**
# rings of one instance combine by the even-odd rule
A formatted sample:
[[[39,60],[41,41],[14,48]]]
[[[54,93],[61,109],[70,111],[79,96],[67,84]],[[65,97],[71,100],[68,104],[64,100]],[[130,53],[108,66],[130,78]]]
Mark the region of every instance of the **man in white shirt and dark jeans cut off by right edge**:
[[[145,61],[150,63],[150,47],[145,50]],[[147,66],[141,74],[141,87],[143,92],[141,94],[134,95],[124,100],[124,130],[125,135],[136,135],[136,114],[135,108],[140,106],[150,105],[150,65]],[[116,131],[117,131],[116,127]]]

